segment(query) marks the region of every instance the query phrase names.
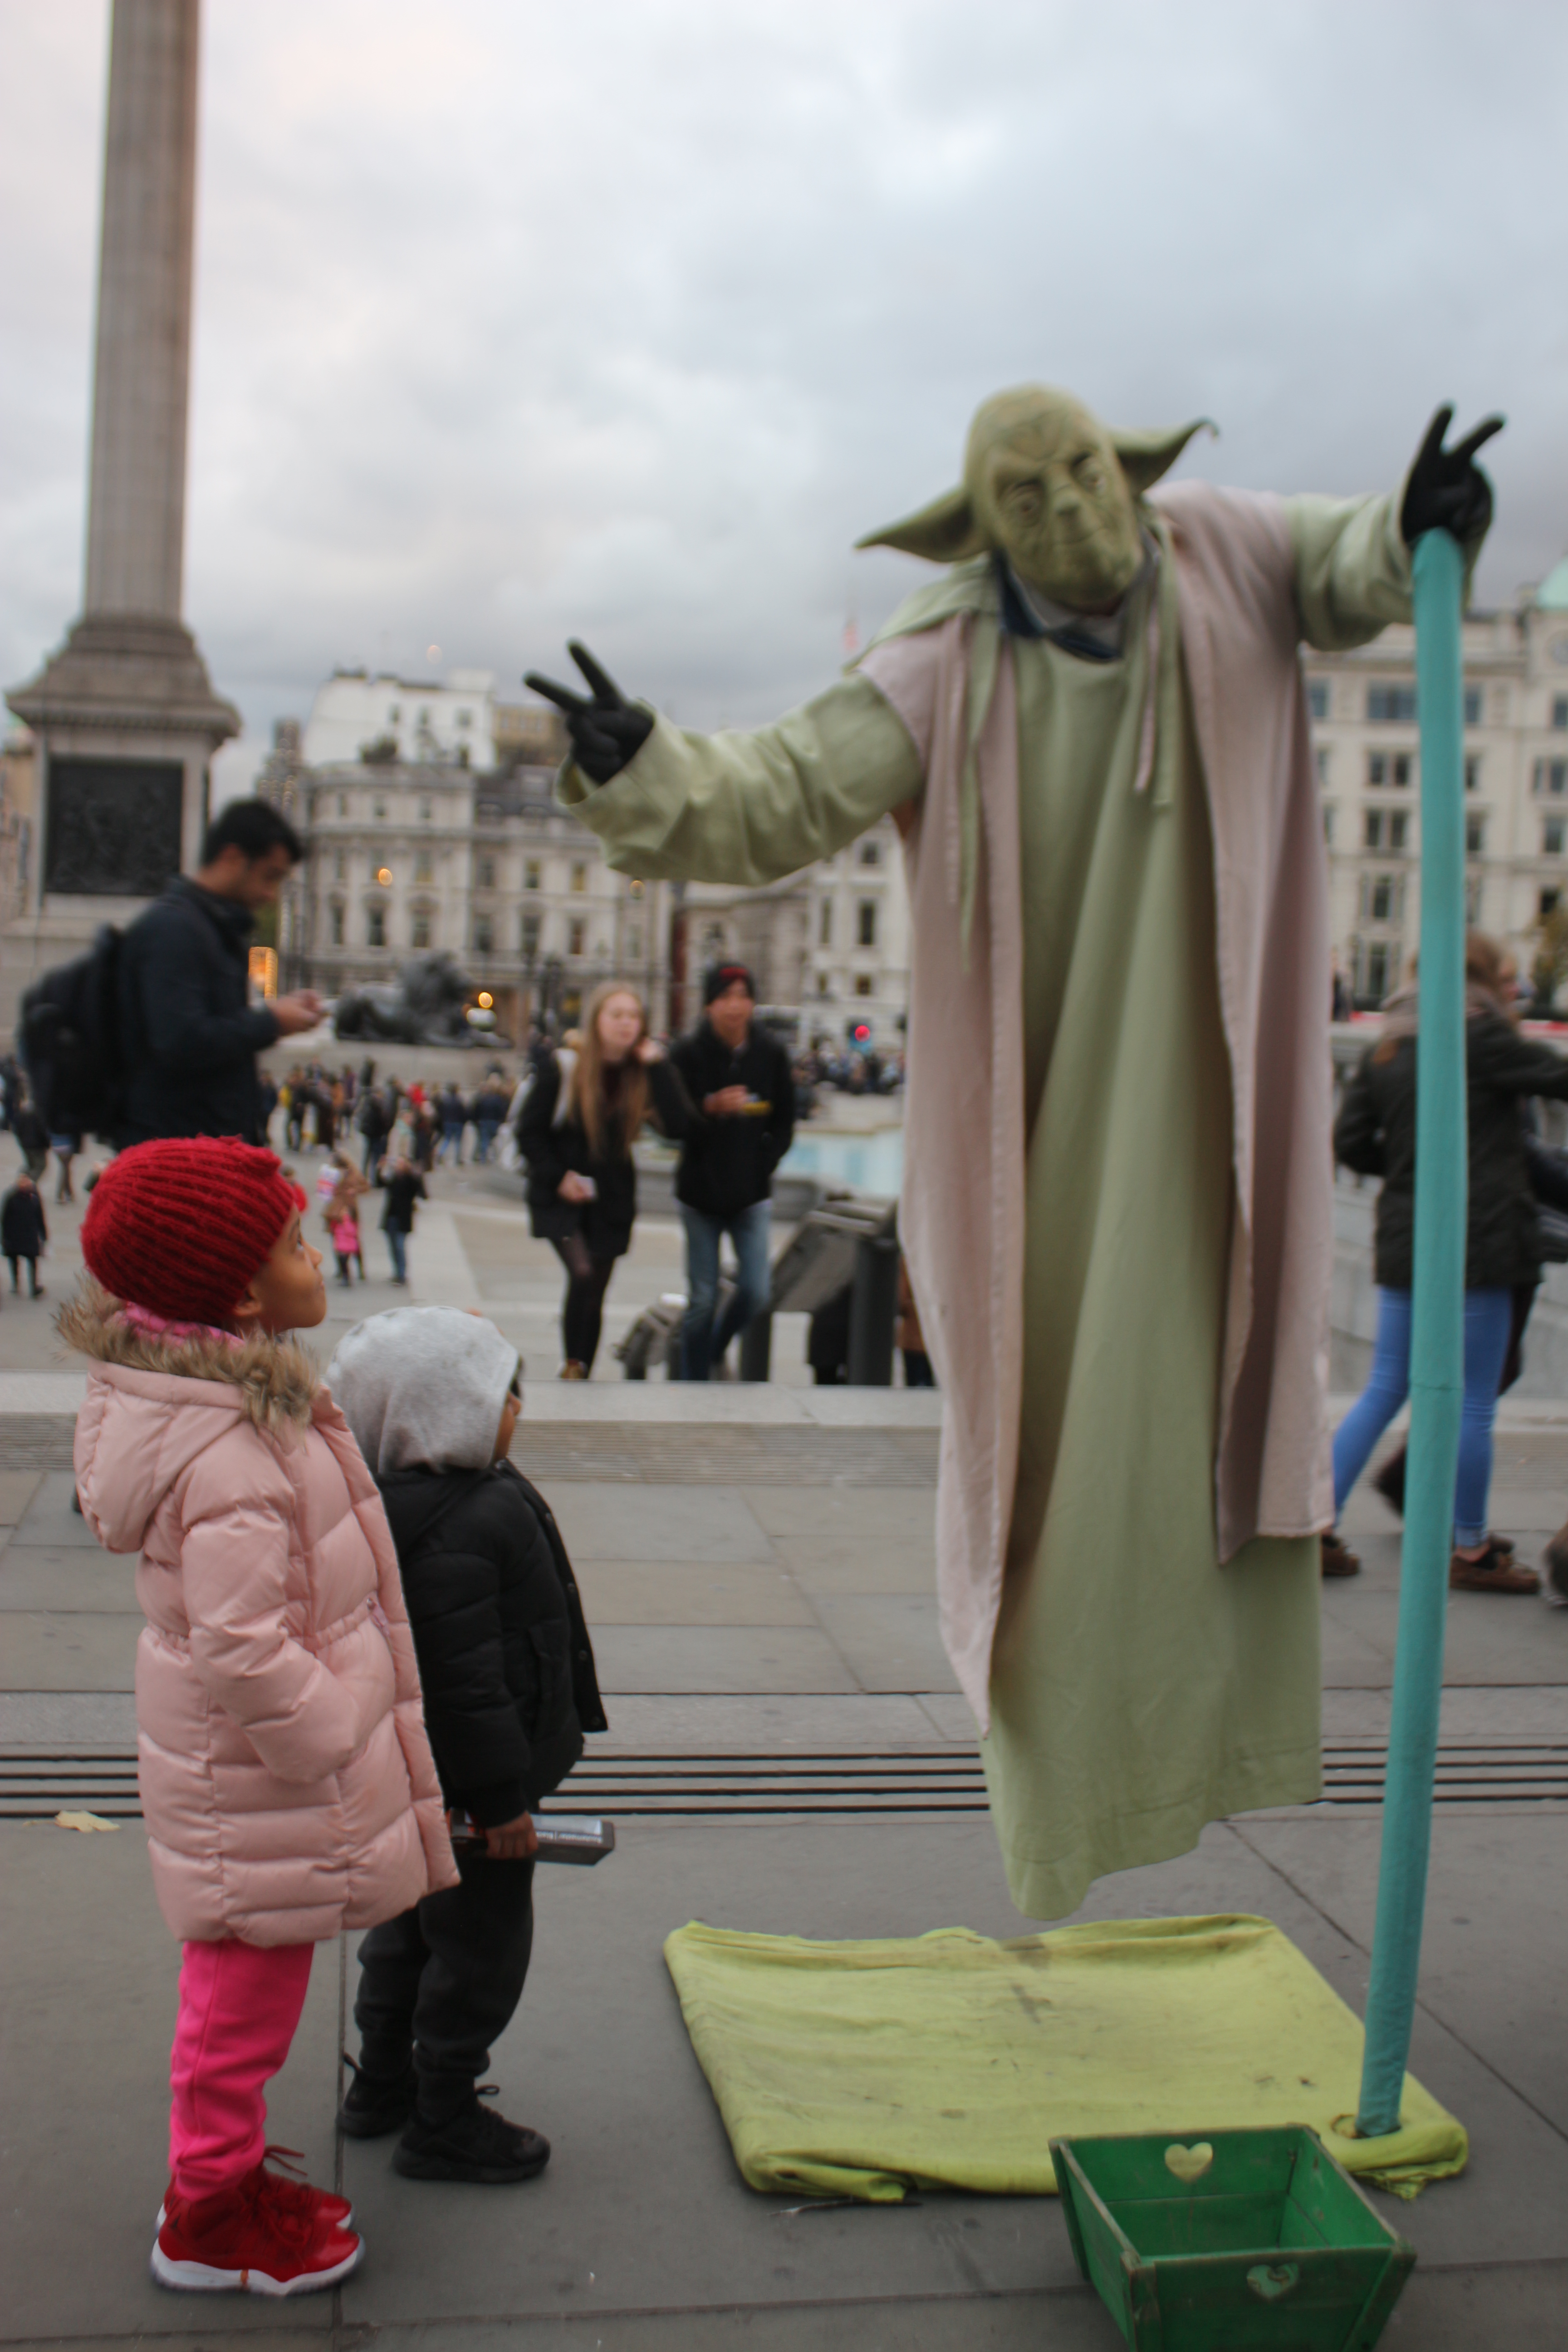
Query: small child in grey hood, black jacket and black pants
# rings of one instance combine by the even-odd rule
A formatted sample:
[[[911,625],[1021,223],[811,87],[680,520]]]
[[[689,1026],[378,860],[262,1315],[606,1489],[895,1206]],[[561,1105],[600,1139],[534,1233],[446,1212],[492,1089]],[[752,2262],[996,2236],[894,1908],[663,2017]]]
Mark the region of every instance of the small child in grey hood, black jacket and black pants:
[[[360,2058],[339,2122],[400,2131],[414,2180],[531,2180],[550,2143],[480,2103],[534,1945],[531,1813],[604,1731],[592,1644],[567,1548],[508,1449],[517,1350],[458,1308],[393,1308],[355,1324],[327,1374],[397,1545],[442,1795],[484,1832],[461,1886],[425,1896],[360,1945]]]

